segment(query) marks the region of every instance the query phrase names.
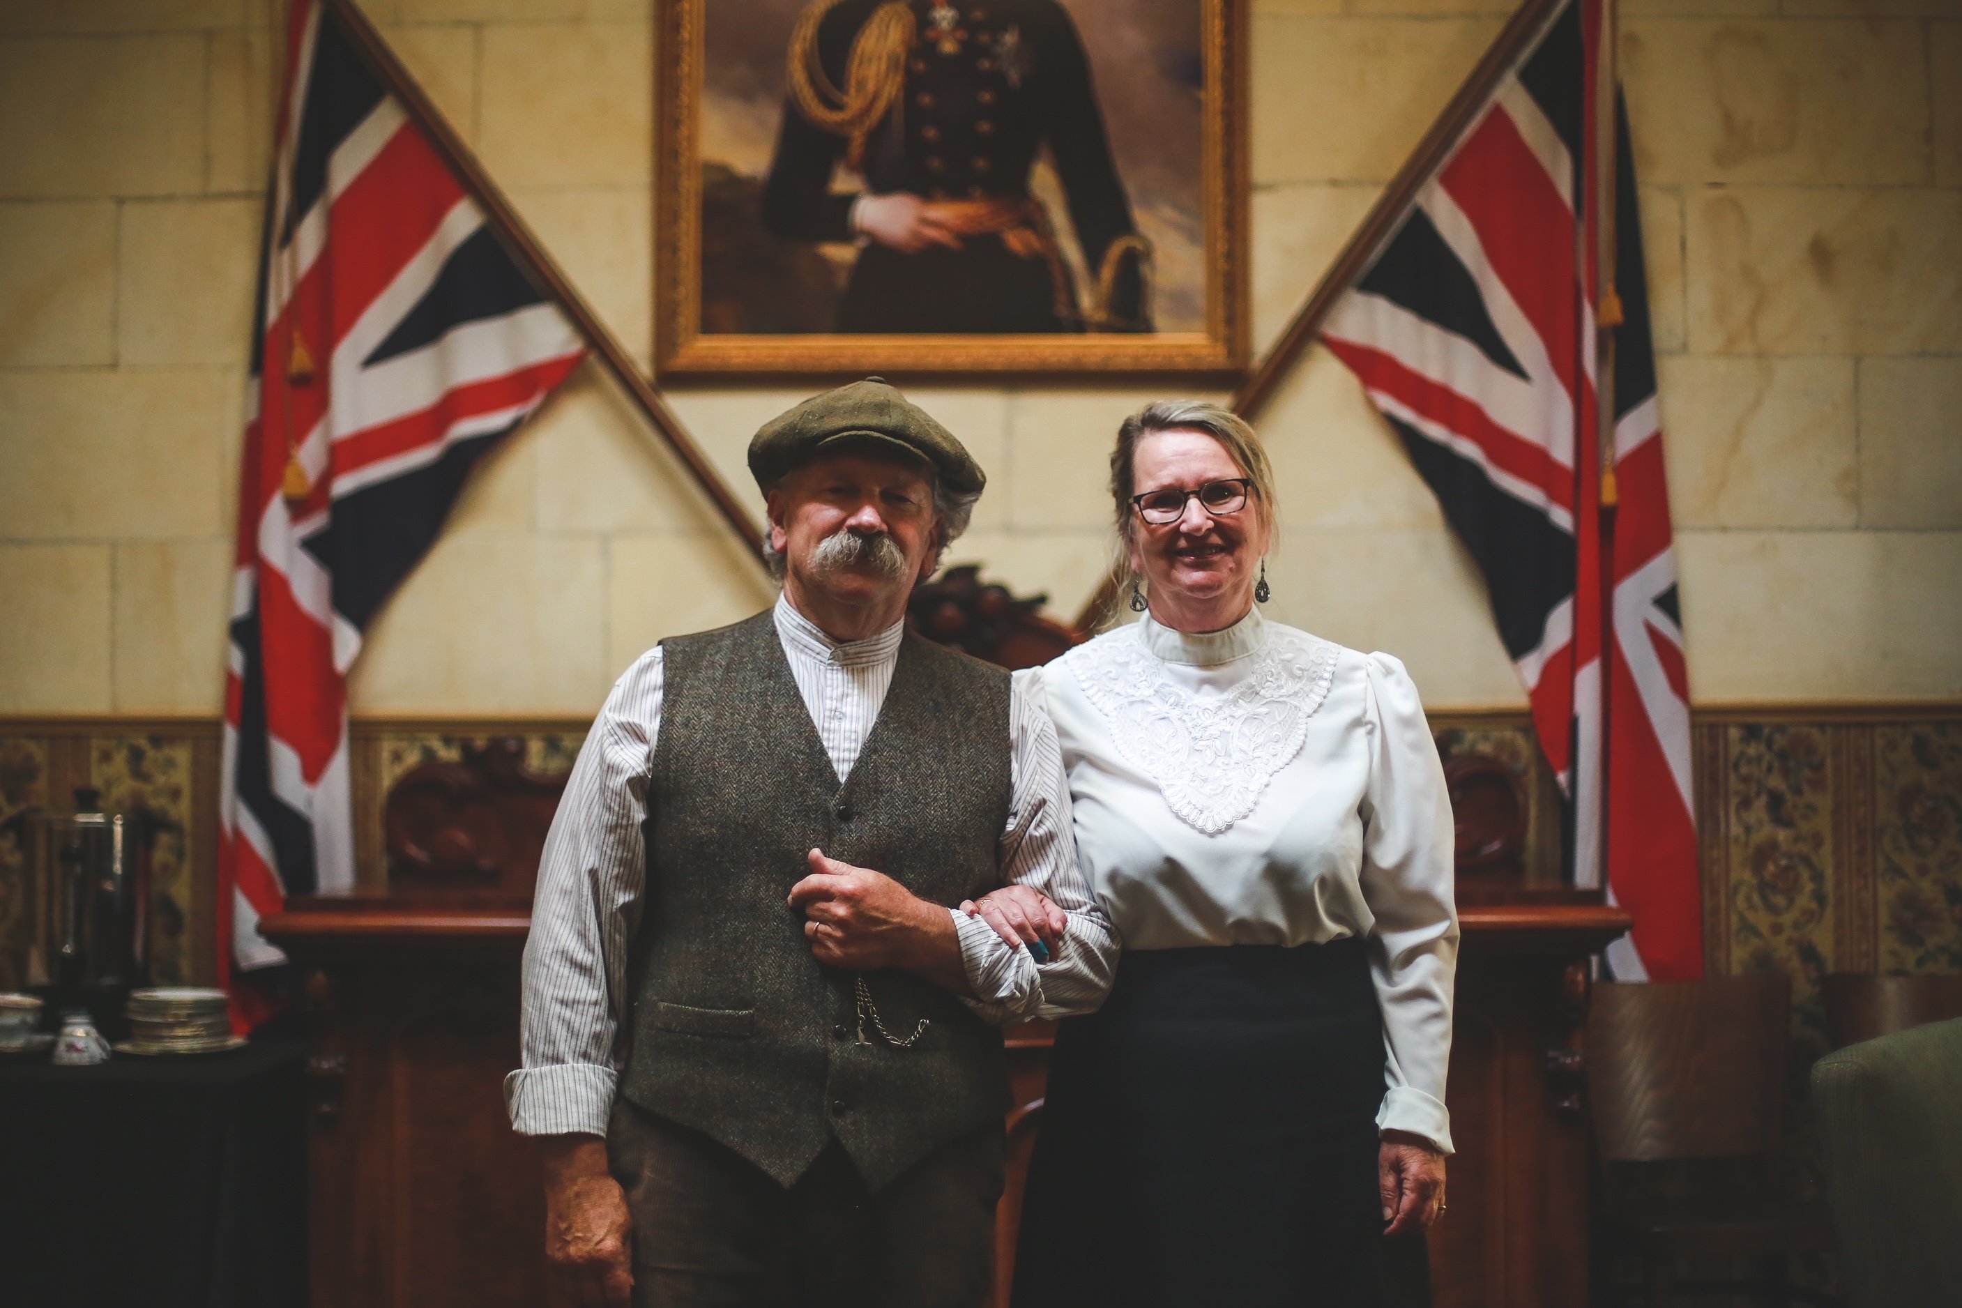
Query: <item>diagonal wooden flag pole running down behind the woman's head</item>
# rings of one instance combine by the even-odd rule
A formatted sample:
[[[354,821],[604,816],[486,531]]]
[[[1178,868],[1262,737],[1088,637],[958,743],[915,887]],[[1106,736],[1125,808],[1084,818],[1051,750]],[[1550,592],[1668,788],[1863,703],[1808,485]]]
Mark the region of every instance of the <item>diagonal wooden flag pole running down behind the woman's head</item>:
[[[1477,116],[1491,102],[1493,92],[1507,73],[1519,65],[1521,57],[1532,49],[1548,25],[1560,16],[1566,0],[1524,0],[1513,18],[1507,20],[1505,27],[1493,37],[1491,47],[1472,69],[1472,75],[1452,96],[1444,112],[1438,114],[1436,122],[1430,124],[1430,131],[1424,139],[1417,143],[1411,157],[1403,161],[1397,176],[1391,178],[1389,186],[1377,198],[1369,216],[1362,220],[1356,233],[1336,255],[1336,261],[1328,265],[1322,278],[1303,300],[1301,308],[1275,337],[1273,345],[1267,347],[1246,377],[1240,380],[1240,388],[1232,398],[1232,412],[1240,418],[1252,422],[1267,400],[1273,398],[1275,388],[1287,375],[1287,369],[1315,343],[1320,335],[1322,322],[1334,310],[1336,300],[1350,288],[1350,284],[1369,271],[1375,257],[1383,251],[1389,239],[1403,226],[1403,218],[1411,212],[1417,202],[1417,192],[1436,175],[1444,161],[1450,159],[1452,151],[1466,137],[1472,127],[1477,126]],[[1118,577],[1105,577],[1097,586],[1083,610],[1077,614],[1077,631],[1089,635],[1101,628],[1110,610],[1116,606]]]

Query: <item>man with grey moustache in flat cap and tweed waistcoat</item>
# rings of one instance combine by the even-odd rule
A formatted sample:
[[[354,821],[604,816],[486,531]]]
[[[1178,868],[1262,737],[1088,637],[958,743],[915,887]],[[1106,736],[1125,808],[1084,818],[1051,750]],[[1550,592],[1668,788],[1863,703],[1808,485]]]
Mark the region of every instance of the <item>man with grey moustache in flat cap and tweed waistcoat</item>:
[[[1048,718],[904,631],[975,461],[867,378],[749,469],[783,596],[626,671],[540,863],[506,1094],[547,1255],[583,1304],[981,1304],[989,1024],[1095,1008],[1114,941]],[[961,910],[1003,884],[1063,912]]]

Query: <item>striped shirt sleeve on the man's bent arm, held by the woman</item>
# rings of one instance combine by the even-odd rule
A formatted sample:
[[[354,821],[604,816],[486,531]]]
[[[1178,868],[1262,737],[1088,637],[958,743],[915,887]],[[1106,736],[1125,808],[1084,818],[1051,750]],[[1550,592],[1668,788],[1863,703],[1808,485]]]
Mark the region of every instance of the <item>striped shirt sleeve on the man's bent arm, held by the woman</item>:
[[[1012,780],[1001,835],[1001,880],[1050,896],[1069,924],[1056,955],[1036,963],[1026,947],[1008,945],[985,920],[952,910],[973,988],[973,996],[963,998],[995,1026],[1093,1012],[1116,975],[1116,928],[1077,863],[1063,749],[1038,696],[1040,682],[1030,673],[1016,673],[1008,704]]]

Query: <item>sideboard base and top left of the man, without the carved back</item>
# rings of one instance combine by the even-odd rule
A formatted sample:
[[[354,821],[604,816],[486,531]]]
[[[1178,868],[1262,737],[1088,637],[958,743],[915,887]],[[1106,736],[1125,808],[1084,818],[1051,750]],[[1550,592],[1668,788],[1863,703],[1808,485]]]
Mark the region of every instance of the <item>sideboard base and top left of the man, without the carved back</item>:
[[[538,1159],[510,1132],[524,908],[296,898],[314,1308],[545,1300]]]

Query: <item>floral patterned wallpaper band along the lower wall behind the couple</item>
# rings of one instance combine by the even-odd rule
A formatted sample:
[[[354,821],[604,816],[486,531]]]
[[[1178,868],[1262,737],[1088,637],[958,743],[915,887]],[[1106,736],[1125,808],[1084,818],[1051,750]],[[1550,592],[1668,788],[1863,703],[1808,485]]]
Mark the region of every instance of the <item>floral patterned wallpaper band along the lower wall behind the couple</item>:
[[[1526,777],[1528,857],[1558,847],[1552,782],[1524,718],[1438,714],[1446,749],[1479,749]],[[581,722],[357,722],[361,880],[385,880],[381,798],[418,763],[492,733],[526,739],[536,771],[571,767]],[[1701,714],[1695,726],[1707,963],[1793,981],[1793,1069],[1825,1049],[1819,979],[1833,971],[1962,973],[1962,708],[1848,710],[1799,720]],[[0,988],[22,982],[29,886],[18,818],[92,784],[110,808],[161,822],[159,979],[212,977],[218,733],[206,722],[0,722]]]

